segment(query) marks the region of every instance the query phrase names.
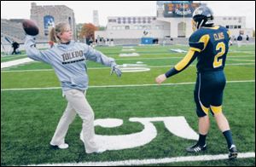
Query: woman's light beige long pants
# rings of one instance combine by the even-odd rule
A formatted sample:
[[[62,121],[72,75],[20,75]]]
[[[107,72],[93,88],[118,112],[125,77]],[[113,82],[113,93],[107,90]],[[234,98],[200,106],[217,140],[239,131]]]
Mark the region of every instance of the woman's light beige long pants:
[[[68,101],[67,108],[61,117],[50,144],[60,145],[65,143],[65,136],[67,135],[69,124],[73,122],[73,119],[78,113],[79,117],[83,120],[82,131],[85,152],[90,153],[96,151],[98,147],[94,139],[94,112],[86,100],[84,92],[78,89],[69,89],[64,92],[64,95]]]

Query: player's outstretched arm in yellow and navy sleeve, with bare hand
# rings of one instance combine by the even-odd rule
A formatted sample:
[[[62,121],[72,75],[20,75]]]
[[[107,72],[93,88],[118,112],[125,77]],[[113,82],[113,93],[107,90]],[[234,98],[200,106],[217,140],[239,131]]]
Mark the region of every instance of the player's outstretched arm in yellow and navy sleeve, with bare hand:
[[[183,60],[180,60],[177,65],[172,67],[168,72],[165,74],[161,74],[157,78],[155,78],[156,83],[162,83],[166,80],[166,78],[170,78],[173,75],[182,72],[184,69],[186,69],[197,57],[199,54],[198,51],[195,51],[195,49],[189,49],[188,54],[184,56]]]

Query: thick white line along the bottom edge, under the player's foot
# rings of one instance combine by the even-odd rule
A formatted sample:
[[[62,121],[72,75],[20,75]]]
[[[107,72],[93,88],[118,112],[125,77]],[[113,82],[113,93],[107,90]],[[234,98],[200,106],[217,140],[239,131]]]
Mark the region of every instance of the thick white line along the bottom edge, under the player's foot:
[[[31,164],[28,166],[120,166],[120,165],[146,165],[146,164],[170,164],[178,162],[196,162],[227,159],[228,154],[218,155],[198,155],[173,158],[148,158],[148,159],[128,159],[120,161],[99,161],[84,163],[63,163],[63,164]],[[238,153],[237,158],[255,158],[255,153]]]

